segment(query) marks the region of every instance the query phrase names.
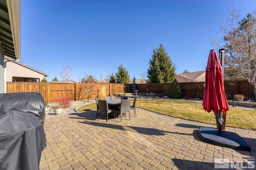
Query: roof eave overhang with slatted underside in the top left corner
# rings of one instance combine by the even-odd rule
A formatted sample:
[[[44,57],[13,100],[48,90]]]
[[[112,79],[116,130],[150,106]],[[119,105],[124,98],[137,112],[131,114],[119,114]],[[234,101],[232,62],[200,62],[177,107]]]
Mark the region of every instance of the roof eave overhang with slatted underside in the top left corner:
[[[20,59],[20,0],[0,1],[0,44],[4,55]]]

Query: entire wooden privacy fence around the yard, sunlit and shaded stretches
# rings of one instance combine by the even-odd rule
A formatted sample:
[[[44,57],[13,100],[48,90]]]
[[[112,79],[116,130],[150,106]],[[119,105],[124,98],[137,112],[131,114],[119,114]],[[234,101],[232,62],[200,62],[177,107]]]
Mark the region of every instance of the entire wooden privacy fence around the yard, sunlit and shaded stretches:
[[[44,97],[44,102],[58,102],[60,98],[71,98],[71,100],[88,99],[88,95],[81,93],[81,86],[86,83],[41,83],[41,82],[7,82],[7,93],[14,92],[40,92]],[[203,98],[204,82],[180,83],[182,97]],[[131,93],[131,84],[95,84],[94,94],[91,99],[98,96],[98,91],[102,86],[106,87],[106,96],[110,94]],[[155,93],[168,95],[170,83],[137,84],[140,93]],[[88,87],[88,86],[85,86]],[[247,100],[255,100],[253,86],[247,81],[224,81],[224,88],[227,99],[232,99],[234,94],[244,94]]]

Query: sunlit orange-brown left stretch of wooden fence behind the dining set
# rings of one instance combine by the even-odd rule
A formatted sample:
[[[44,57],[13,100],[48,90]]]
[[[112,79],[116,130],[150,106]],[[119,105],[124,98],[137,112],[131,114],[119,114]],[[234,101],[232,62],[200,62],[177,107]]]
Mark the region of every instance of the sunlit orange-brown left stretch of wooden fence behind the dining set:
[[[123,94],[127,85],[125,84],[93,84],[94,92],[90,96],[94,99],[102,86],[106,87],[106,96],[110,94]],[[55,103],[61,98],[71,100],[88,99],[86,94],[86,83],[42,83],[42,82],[7,82],[7,93],[15,92],[40,92],[44,102]]]

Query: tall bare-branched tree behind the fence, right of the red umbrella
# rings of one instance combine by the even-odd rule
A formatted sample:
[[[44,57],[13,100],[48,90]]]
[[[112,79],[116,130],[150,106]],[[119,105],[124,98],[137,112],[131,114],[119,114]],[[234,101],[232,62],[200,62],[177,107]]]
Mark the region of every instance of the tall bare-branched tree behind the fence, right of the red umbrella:
[[[240,19],[240,12],[230,8],[226,25],[220,27],[222,35],[212,38],[214,47],[226,48],[224,76],[245,79],[254,87],[256,96],[256,10]]]

